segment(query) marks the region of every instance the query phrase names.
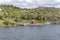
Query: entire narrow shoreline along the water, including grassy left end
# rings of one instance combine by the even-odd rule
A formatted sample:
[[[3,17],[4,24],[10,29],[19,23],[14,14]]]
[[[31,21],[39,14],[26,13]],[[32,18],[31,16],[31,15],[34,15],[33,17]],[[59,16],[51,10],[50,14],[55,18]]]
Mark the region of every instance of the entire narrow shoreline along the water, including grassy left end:
[[[37,23],[37,24],[31,24],[31,23],[18,23],[16,25],[0,25],[0,27],[14,27],[14,26],[38,26],[38,25],[50,25],[50,24],[58,24],[60,22],[45,22],[45,23]]]

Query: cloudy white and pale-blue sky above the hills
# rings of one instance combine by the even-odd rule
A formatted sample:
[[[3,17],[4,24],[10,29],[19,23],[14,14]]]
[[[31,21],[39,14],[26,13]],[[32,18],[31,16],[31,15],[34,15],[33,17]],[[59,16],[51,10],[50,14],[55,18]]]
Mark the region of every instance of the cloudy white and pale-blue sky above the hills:
[[[60,0],[0,0],[0,4],[10,4],[21,8],[48,6],[60,8]]]

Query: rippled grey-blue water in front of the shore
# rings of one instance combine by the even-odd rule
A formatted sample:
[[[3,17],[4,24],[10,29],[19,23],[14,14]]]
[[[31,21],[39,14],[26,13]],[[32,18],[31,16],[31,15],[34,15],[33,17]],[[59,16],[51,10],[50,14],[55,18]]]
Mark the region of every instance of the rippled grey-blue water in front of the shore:
[[[60,40],[60,24],[1,27],[0,40]]]

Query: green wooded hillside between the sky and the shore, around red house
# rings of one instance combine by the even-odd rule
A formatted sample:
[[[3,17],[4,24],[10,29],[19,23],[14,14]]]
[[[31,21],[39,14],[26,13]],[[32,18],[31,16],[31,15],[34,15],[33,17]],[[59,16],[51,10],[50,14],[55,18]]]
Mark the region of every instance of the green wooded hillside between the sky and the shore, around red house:
[[[19,8],[13,5],[0,5],[0,26],[31,24],[36,20],[37,24],[60,23],[60,8],[36,7]]]

